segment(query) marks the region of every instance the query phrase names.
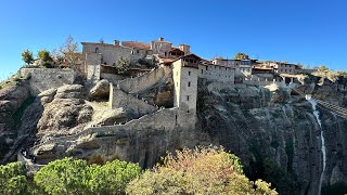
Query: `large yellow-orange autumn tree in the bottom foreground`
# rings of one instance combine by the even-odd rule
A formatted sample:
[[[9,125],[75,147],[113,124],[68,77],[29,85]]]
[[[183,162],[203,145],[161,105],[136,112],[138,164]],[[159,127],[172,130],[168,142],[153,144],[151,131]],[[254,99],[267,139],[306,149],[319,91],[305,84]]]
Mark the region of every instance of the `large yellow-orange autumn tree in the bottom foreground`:
[[[128,194],[271,194],[270,184],[249,181],[240,159],[222,147],[177,151],[152,171],[131,181]],[[254,187],[256,186],[256,188]]]

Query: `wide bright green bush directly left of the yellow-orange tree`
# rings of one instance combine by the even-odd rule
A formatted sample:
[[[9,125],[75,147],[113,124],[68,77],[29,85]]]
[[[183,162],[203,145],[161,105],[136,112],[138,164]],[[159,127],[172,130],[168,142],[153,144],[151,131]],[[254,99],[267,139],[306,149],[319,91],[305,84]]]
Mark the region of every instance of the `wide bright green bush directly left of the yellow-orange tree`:
[[[39,170],[34,181],[46,194],[125,194],[128,182],[141,172],[137,164],[114,160],[104,166],[64,158]]]

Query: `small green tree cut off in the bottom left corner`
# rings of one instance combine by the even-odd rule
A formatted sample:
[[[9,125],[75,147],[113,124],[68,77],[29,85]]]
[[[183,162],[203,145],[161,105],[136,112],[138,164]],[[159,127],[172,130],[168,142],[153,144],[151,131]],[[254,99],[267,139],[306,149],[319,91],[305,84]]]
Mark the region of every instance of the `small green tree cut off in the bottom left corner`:
[[[0,166],[0,194],[29,194],[29,185],[21,162]]]

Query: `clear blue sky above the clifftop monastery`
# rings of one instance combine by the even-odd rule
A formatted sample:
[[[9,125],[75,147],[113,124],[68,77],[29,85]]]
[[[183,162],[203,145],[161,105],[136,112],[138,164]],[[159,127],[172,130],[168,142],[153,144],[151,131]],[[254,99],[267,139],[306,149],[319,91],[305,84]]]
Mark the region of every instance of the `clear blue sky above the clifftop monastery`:
[[[163,36],[206,58],[242,51],[346,70],[346,0],[2,0],[0,80],[24,64],[23,50],[52,50],[68,35],[78,42]]]

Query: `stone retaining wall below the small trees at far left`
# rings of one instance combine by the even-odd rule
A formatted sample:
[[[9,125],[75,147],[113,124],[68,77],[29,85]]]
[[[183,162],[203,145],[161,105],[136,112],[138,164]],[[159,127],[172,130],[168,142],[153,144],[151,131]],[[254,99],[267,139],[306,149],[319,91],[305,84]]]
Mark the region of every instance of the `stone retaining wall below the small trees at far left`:
[[[75,83],[78,74],[60,68],[22,68],[21,76],[29,78],[31,94],[37,95],[52,88]]]

